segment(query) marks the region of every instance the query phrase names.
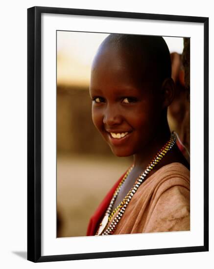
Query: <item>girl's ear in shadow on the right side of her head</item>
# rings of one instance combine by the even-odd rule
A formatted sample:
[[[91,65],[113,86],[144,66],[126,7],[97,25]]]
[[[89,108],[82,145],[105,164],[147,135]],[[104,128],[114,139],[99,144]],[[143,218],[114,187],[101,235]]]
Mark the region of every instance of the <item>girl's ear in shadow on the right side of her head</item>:
[[[161,86],[162,108],[167,108],[174,99],[175,84],[172,78],[166,78]]]

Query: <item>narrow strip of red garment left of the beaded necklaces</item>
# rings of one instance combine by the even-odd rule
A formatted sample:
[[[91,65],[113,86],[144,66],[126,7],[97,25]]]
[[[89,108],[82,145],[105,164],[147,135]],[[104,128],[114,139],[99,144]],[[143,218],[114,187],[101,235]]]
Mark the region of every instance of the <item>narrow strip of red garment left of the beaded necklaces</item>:
[[[125,172],[126,173],[126,172]],[[116,191],[119,182],[122,180],[124,177],[125,173],[119,178],[119,180],[115,183],[115,185],[111,188],[111,190],[107,193],[103,201],[99,204],[97,207],[94,215],[91,217],[89,224],[88,224],[88,229],[87,229],[87,236],[95,235],[96,229],[98,224],[102,221],[102,217],[105,214],[109,203],[111,202],[111,199],[113,197],[114,192]]]

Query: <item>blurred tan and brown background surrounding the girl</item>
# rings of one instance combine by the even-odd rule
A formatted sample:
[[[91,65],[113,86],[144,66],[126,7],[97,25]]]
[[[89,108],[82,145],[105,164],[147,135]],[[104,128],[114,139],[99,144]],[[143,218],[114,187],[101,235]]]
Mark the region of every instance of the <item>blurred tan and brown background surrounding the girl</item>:
[[[107,36],[57,31],[57,237],[85,236],[95,209],[132,164],[132,157],[113,155],[91,117],[90,68]],[[179,134],[182,143],[178,141],[178,146],[189,160],[190,40],[164,39],[176,83],[168,121],[170,129]]]

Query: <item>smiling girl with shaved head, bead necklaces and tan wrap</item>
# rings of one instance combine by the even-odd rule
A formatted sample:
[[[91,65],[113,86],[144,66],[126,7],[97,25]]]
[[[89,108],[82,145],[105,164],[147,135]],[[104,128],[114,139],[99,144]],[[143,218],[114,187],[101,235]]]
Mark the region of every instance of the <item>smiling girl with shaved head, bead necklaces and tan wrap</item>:
[[[95,127],[133,165],[91,218],[87,235],[190,230],[189,163],[170,134],[171,61],[162,37],[111,34],[91,72]]]

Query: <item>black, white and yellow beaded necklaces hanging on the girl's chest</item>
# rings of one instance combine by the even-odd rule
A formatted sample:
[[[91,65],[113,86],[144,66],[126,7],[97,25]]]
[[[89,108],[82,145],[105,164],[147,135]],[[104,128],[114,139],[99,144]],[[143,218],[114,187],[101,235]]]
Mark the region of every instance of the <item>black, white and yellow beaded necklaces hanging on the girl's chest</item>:
[[[128,192],[128,194],[125,196],[125,198],[120,202],[120,204],[113,210],[113,205],[118,197],[119,191],[121,189],[122,184],[124,183],[125,179],[128,177],[129,173],[132,171],[134,165],[132,165],[126,174],[124,175],[123,179],[120,181],[119,186],[117,187],[112,200],[106,210],[105,216],[100,223],[100,226],[96,232],[96,235],[109,235],[113,234],[117,224],[119,223],[119,220],[121,219],[128,203],[131,201],[133,195],[136,193],[139,186],[144,182],[146,176],[148,173],[155,167],[156,164],[166,155],[166,153],[174,146],[176,142],[176,136],[174,135],[174,132],[172,132],[170,139],[166,142],[164,147],[157,153],[157,155],[153,158],[153,160],[148,164],[146,169],[143,171],[143,173],[138,177],[136,180],[134,186],[131,188],[131,190]],[[114,214],[119,210],[119,213],[115,217],[115,219],[112,221],[112,223],[109,225],[109,227],[104,231],[105,227],[109,222],[112,220]]]

